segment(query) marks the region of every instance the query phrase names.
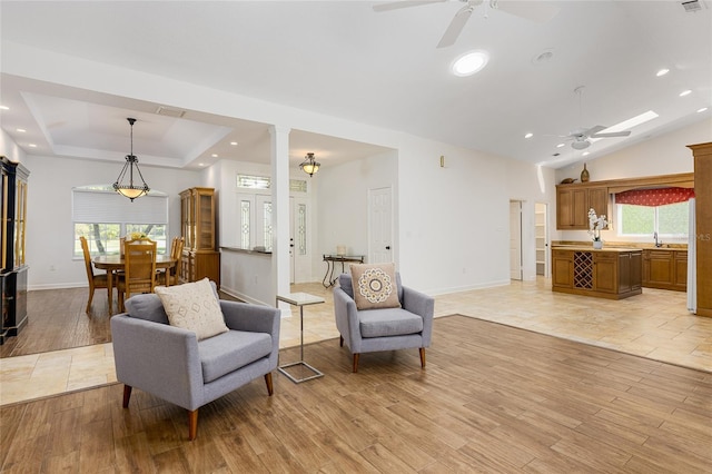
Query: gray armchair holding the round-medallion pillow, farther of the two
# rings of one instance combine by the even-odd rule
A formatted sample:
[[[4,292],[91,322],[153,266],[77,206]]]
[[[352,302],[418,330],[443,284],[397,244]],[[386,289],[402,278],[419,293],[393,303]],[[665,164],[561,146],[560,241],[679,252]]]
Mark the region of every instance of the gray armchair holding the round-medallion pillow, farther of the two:
[[[425,348],[429,347],[433,334],[435,300],[400,284],[396,273],[396,284],[400,308],[362,309],[356,308],[352,277],[339,275],[339,286],[334,288],[334,314],[336,327],[354,356],[353,371],[358,371],[362,353],[396,350],[417,347],[421,366],[425,368]]]

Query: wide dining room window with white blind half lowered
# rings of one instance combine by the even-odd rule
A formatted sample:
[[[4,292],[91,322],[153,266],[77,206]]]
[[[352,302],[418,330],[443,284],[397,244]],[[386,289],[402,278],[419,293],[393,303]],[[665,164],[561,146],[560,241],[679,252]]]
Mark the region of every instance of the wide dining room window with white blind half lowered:
[[[166,253],[168,229],[168,196],[151,190],[130,201],[110,185],[72,189],[73,256],[82,257],[79,237],[87,238],[91,255],[118,255],[120,238],[144,234]]]

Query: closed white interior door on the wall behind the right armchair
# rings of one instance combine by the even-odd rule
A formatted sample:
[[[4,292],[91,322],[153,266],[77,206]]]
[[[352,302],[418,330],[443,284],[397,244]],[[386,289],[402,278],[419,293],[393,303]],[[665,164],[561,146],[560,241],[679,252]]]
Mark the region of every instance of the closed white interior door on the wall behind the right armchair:
[[[393,208],[390,187],[368,190],[368,261],[393,261]]]

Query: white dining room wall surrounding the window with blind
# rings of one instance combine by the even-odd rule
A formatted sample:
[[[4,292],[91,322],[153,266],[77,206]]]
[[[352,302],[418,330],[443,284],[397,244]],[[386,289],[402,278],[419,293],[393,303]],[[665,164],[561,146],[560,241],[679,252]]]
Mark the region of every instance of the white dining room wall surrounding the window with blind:
[[[70,158],[27,156],[28,187],[27,261],[28,287],[32,289],[87,286],[83,260],[73,259],[71,189],[111,184],[121,170],[115,164]],[[178,194],[201,186],[200,174],[141,166],[146,182],[169,198],[169,235],[180,235]],[[140,206],[140,199],[134,201]],[[50,270],[53,267],[55,270]]]

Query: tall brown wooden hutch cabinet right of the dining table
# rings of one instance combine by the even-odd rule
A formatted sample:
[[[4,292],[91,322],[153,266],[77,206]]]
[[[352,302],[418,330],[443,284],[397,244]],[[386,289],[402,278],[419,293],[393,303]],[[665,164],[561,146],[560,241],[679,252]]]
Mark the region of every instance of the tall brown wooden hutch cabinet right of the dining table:
[[[180,279],[197,282],[207,277],[219,288],[215,189],[190,188],[180,192],[180,234],[185,240]]]

